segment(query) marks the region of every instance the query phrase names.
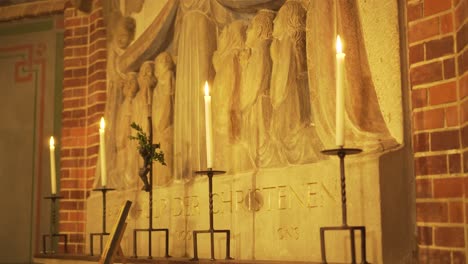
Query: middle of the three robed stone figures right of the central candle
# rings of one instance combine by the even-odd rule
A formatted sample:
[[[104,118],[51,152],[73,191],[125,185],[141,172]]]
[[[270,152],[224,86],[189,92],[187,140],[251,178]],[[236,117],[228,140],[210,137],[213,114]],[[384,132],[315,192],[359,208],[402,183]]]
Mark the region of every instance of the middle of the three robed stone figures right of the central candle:
[[[262,9],[252,18],[247,29],[246,52],[242,56],[240,111],[242,113],[242,141],[256,167],[277,165],[278,149],[270,141],[271,126],[271,58],[273,32],[271,10]]]

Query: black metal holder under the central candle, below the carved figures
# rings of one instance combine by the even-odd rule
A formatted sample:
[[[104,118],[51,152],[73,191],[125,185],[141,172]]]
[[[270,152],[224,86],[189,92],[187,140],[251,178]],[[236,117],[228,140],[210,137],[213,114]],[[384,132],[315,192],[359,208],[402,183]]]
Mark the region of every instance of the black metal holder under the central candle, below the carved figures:
[[[208,230],[193,230],[193,258],[191,260],[198,260],[198,241],[197,235],[201,233],[210,234],[210,250],[211,250],[211,260],[214,258],[214,233],[226,233],[226,259],[231,258],[230,247],[231,247],[231,231],[229,229],[214,229],[214,217],[213,217],[213,175],[215,174],[224,174],[225,171],[212,170],[211,168],[204,171],[196,171],[196,174],[206,174],[208,176],[208,199],[209,199],[209,215],[210,215],[210,228]]]

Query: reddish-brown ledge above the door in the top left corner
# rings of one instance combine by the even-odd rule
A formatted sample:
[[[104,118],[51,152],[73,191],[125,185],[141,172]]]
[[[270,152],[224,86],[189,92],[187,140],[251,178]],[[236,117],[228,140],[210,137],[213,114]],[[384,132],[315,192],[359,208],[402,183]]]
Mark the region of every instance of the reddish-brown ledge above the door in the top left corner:
[[[0,8],[0,22],[63,13],[66,0],[38,1]]]

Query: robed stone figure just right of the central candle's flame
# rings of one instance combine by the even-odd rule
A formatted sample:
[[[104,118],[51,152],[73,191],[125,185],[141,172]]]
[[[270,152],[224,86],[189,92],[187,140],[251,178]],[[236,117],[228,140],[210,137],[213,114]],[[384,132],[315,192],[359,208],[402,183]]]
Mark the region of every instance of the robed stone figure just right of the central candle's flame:
[[[213,54],[213,66],[216,71],[212,91],[216,153],[214,164],[228,171],[236,167],[245,167],[242,166],[242,159],[248,157],[245,147],[244,155],[239,157],[233,151],[241,149],[234,149],[232,146],[240,138],[240,56],[244,49],[245,30],[246,24],[242,20],[225,26],[218,39],[218,49]],[[239,159],[233,160],[233,156]]]

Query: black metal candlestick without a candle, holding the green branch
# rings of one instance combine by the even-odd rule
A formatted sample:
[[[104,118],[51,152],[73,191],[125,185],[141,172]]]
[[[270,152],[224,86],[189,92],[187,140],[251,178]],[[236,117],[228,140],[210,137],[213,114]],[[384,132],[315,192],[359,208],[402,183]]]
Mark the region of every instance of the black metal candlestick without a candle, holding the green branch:
[[[153,142],[153,120],[151,116],[148,116],[148,123],[149,123],[149,142]],[[152,153],[150,153],[152,154]],[[147,157],[143,157],[145,159]],[[166,235],[166,252],[165,252],[165,257],[169,258],[169,229],[168,228],[153,228],[153,161],[149,162],[147,165],[149,168],[149,222],[148,222],[148,228],[136,228],[133,229],[133,257],[137,258],[137,234],[138,232],[148,232],[148,258],[151,259],[153,258],[152,253],[151,253],[151,234],[153,232],[164,232]]]

